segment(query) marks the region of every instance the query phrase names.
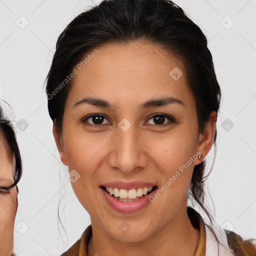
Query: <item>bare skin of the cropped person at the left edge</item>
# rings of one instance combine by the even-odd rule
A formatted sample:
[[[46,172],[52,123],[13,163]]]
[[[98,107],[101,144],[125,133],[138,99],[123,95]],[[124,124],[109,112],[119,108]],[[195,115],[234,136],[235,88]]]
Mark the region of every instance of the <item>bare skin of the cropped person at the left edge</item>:
[[[13,160],[0,134],[0,185],[9,186],[13,180]],[[0,255],[9,256],[13,250],[13,229],[17,208],[17,191],[12,187],[0,193]]]

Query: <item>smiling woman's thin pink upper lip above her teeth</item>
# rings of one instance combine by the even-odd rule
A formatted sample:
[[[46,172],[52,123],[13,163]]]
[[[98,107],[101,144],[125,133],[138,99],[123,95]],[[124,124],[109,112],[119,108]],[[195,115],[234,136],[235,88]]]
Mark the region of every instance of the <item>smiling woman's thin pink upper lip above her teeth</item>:
[[[139,187],[149,187],[149,186],[156,186],[155,183],[151,182],[143,182],[143,181],[133,181],[133,182],[123,182],[123,181],[111,181],[111,182],[106,182],[102,183],[99,186],[105,186],[105,187],[116,187],[118,189],[132,189],[132,188],[139,188]]]

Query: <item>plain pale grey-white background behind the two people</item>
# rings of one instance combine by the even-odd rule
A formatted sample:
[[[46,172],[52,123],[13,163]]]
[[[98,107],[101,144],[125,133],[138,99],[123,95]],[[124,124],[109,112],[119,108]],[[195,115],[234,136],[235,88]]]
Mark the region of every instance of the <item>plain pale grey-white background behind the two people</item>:
[[[60,162],[43,82],[57,36],[97,2],[0,0],[0,96],[13,109],[6,111],[17,129],[24,166],[14,230],[18,256],[59,255],[90,223],[65,176],[67,167]],[[256,238],[256,1],[175,3],[206,34],[222,88],[218,150],[208,178],[216,222],[244,238]],[[60,200],[67,236],[58,225]],[[210,197],[207,201],[210,205]]]

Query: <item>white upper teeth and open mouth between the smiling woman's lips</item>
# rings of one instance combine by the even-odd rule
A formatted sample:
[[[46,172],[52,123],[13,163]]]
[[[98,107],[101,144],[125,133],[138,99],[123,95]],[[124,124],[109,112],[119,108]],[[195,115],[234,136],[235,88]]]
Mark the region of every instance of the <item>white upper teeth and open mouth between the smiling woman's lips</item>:
[[[148,186],[148,187],[139,187],[137,189],[118,189],[116,187],[101,186],[106,192],[108,192],[114,199],[122,202],[133,202],[137,201],[140,198],[143,198],[145,195],[152,193],[157,186]]]

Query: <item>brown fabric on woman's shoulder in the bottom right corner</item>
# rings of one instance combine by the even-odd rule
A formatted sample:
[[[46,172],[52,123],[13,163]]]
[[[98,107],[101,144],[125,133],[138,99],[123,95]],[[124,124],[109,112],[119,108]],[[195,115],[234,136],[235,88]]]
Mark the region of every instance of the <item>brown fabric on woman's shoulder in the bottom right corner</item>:
[[[233,255],[252,256],[256,255],[255,239],[243,239],[239,234],[224,229],[229,248]]]

